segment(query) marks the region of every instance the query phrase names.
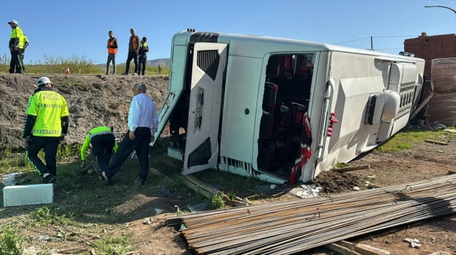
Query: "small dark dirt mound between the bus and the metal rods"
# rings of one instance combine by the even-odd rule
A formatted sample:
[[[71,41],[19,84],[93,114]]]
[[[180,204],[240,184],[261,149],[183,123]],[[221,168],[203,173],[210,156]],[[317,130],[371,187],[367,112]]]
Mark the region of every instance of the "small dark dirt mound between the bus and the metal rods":
[[[323,188],[323,192],[339,193],[353,190],[353,187],[360,187],[362,180],[356,176],[327,171],[320,173],[315,184]]]

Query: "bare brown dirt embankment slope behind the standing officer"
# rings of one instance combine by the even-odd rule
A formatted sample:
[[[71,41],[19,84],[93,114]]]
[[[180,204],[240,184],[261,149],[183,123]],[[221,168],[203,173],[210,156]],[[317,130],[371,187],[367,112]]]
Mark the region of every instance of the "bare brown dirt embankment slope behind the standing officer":
[[[0,150],[21,148],[28,97],[36,89],[38,75],[0,75]],[[65,97],[70,112],[68,143],[83,143],[95,126],[127,131],[132,86],[147,85],[147,95],[159,111],[167,94],[168,77],[112,75],[48,75],[56,92]]]

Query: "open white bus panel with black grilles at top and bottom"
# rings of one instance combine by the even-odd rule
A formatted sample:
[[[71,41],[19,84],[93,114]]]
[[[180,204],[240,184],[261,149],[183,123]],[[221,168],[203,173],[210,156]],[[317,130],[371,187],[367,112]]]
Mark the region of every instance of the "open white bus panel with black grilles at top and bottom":
[[[195,43],[183,174],[217,166],[227,44]]]

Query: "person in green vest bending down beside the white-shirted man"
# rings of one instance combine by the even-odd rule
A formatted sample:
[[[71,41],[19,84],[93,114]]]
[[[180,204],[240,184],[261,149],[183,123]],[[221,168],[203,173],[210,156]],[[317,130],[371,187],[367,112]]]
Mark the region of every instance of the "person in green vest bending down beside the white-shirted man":
[[[86,151],[92,145],[92,154],[98,161],[98,168],[95,166],[95,172],[98,174],[100,180],[103,180],[101,172],[108,169],[109,161],[114,152],[117,152],[118,145],[115,143],[115,135],[113,127],[97,126],[90,130],[86,136],[83,147],[81,148],[81,168],[86,166]]]

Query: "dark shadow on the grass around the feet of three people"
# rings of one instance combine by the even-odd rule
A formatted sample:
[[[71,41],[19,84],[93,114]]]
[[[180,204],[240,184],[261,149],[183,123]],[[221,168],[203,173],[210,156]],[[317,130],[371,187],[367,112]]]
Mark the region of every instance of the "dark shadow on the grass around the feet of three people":
[[[167,158],[164,147],[150,148],[149,166],[172,178],[172,182],[149,174],[147,184],[140,186],[135,181],[139,173],[137,159],[128,159],[125,162],[113,178],[113,185],[105,185],[98,180],[95,173],[81,173],[80,166],[80,161],[58,166],[52,204],[3,207],[3,192],[0,192],[0,220],[28,215],[39,208],[47,207],[55,215],[71,215],[76,223],[122,224],[155,216],[155,209],[163,210],[162,213],[175,213],[175,205],[182,210],[182,207],[195,205],[202,200],[210,204],[209,200],[184,185],[178,177],[182,170],[179,167],[182,166],[182,162]],[[224,192],[235,194],[247,194],[249,189],[264,183],[255,178],[245,178],[218,170],[204,170],[197,175],[207,183],[219,183],[219,188]],[[24,172],[21,178],[31,180],[26,184],[42,183],[38,173],[31,170]],[[171,196],[163,195],[160,187],[170,190]],[[3,185],[0,188],[3,188]]]

